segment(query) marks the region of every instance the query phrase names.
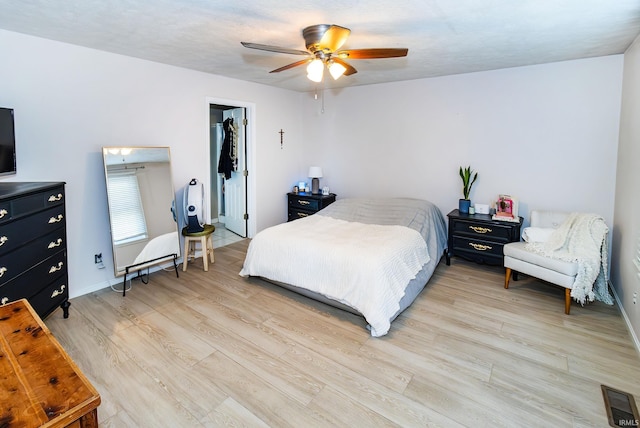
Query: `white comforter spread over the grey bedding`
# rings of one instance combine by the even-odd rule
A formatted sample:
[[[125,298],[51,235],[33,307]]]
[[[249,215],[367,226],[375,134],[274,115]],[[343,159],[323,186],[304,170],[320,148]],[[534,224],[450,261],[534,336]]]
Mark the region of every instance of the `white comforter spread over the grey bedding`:
[[[408,227],[313,215],[258,233],[240,275],[295,285],[344,303],[364,315],[372,336],[382,336],[407,284],[429,260],[424,238]]]

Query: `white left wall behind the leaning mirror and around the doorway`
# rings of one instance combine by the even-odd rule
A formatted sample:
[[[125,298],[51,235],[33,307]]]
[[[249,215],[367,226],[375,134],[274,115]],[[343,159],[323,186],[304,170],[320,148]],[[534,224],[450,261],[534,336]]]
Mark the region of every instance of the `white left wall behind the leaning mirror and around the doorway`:
[[[297,179],[302,95],[18,33],[0,31],[0,106],[15,109],[18,174],[65,181],[71,297],[113,279],[102,146],[169,146],[175,189],[209,173],[207,100],[254,107],[254,229],[286,219]],[[256,209],[257,207],[257,209]],[[250,211],[251,214],[251,211]],[[102,252],[107,268],[93,255]]]

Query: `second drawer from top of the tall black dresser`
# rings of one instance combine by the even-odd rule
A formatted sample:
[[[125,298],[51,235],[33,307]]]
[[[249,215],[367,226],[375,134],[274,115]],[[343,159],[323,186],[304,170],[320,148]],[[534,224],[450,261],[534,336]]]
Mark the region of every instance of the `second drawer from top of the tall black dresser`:
[[[0,255],[64,226],[64,206],[56,206],[0,226]]]

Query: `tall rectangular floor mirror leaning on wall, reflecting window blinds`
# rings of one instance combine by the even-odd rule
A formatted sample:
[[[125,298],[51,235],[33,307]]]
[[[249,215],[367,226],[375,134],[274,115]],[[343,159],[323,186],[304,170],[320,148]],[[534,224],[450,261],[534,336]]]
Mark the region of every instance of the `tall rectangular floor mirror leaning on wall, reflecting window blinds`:
[[[103,147],[115,276],[180,256],[168,147]]]

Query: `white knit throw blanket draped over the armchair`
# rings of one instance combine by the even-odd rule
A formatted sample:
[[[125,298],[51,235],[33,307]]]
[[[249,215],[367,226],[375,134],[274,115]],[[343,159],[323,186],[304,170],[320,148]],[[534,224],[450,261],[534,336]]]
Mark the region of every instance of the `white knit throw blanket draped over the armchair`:
[[[528,243],[526,248],[546,257],[578,263],[571,297],[580,304],[597,299],[612,305],[607,285],[608,232],[602,217],[571,213],[546,242]]]

